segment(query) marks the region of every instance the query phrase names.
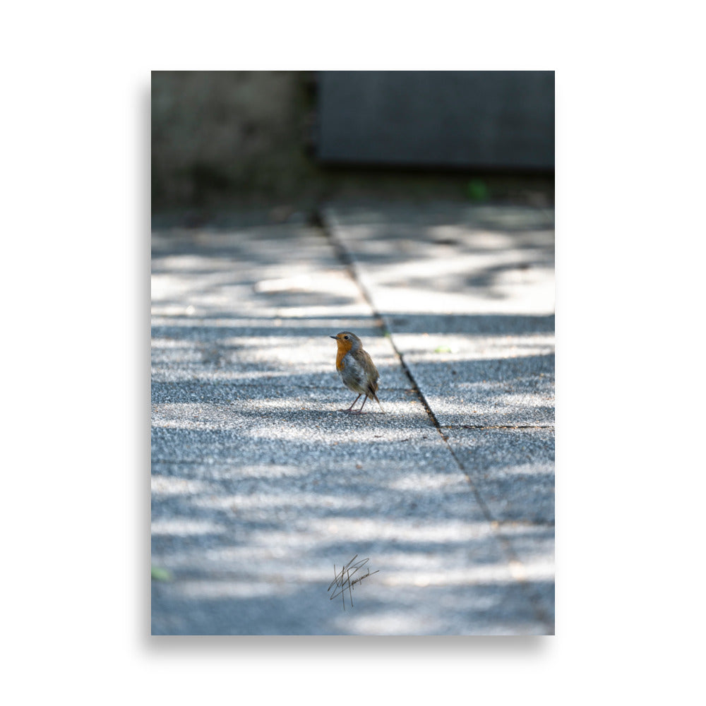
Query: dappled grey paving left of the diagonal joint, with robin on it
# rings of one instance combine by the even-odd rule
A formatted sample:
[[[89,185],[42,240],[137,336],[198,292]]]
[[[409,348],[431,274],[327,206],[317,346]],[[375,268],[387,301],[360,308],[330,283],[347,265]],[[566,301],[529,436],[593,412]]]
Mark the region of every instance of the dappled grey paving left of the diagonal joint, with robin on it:
[[[459,462],[472,438],[445,441],[335,241],[164,229],[152,258],[152,564],[171,575],[152,582],[153,634],[553,632],[551,537],[489,514]],[[384,412],[340,412],[339,330],[378,364]],[[379,573],[344,610],[326,588],[355,554]]]

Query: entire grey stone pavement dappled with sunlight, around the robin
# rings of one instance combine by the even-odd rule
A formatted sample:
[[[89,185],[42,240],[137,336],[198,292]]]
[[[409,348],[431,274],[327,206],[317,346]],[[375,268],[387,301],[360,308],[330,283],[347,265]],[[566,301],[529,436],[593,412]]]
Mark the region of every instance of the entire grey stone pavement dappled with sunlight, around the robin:
[[[512,251],[507,263],[546,251],[551,225],[533,211],[463,214],[383,209],[358,224],[378,234],[366,248],[404,311],[362,291],[318,229],[153,234],[152,565],[172,575],[152,581],[153,634],[553,632],[553,431],[464,428],[553,424],[553,317],[476,310],[496,285],[451,292],[441,266],[469,219]],[[425,306],[399,270],[410,252],[429,262]],[[515,280],[501,286],[515,299],[534,286]],[[435,287],[455,309],[436,311]],[[340,330],[376,361],[384,412],[339,411],[354,399],[334,370]],[[327,587],[354,554],[378,573],[344,610]]]

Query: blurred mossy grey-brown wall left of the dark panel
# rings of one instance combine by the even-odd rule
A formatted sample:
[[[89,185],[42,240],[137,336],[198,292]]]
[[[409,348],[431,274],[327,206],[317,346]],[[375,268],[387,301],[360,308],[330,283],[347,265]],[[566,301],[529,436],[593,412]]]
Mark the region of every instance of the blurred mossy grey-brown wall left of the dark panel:
[[[282,199],[311,177],[297,71],[152,71],[152,206]]]

